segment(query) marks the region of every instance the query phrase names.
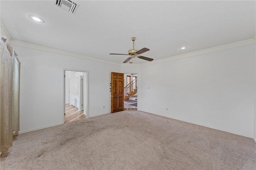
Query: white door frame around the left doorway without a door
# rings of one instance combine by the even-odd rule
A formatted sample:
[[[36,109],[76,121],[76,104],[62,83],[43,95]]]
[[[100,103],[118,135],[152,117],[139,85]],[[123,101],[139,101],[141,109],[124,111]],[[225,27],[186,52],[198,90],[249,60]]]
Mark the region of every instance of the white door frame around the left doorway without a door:
[[[86,78],[84,78],[84,80],[86,80],[86,82],[84,82],[84,86],[86,87],[86,89],[85,89],[85,95],[84,95],[84,98],[86,98],[86,101],[85,101],[85,109],[84,109],[84,111],[85,111],[85,116],[86,116],[86,119],[89,117],[89,113],[88,113],[88,111],[89,111],[89,102],[88,102],[88,100],[89,100],[89,82],[88,82],[88,80],[89,80],[89,71],[86,71],[86,70],[76,70],[76,69],[72,69],[72,68],[62,68],[62,116],[63,116],[63,118],[62,118],[62,124],[64,124],[65,123],[65,115],[64,115],[64,113],[65,113],[65,71],[76,71],[76,72],[84,72],[84,73],[86,73]]]

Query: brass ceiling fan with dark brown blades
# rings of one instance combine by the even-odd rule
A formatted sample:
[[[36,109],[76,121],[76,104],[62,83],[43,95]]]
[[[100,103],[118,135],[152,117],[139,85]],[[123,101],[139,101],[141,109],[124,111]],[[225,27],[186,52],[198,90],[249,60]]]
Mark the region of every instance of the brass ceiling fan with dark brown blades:
[[[133,43],[133,49],[129,50],[128,54],[110,53],[110,55],[130,55],[130,57],[128,57],[128,59],[126,59],[123,63],[127,63],[128,61],[130,61],[130,59],[133,59],[135,57],[138,57],[139,59],[143,59],[143,60],[146,60],[146,61],[153,61],[154,60],[154,59],[139,55],[139,54],[145,53],[146,51],[149,51],[149,49],[143,48],[143,49],[140,49],[139,51],[134,49],[134,41],[135,41],[136,37],[132,37],[131,39],[132,39],[132,43]],[[132,62],[129,62],[129,63],[132,63]]]

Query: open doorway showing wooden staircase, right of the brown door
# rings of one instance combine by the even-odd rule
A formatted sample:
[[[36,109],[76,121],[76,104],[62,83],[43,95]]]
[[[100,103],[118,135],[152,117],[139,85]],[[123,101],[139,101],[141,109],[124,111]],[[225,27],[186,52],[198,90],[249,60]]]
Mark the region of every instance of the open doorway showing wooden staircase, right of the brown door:
[[[137,92],[138,74],[124,74],[124,109],[137,110],[138,92]]]

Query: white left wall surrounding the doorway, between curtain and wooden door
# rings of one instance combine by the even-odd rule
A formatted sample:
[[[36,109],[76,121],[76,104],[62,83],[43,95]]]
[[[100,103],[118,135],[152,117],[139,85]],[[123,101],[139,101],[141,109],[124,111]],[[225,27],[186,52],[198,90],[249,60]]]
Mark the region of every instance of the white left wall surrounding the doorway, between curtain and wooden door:
[[[20,132],[63,123],[63,68],[88,71],[89,117],[111,111],[111,72],[120,72],[120,66],[20,46],[14,49],[21,63]]]

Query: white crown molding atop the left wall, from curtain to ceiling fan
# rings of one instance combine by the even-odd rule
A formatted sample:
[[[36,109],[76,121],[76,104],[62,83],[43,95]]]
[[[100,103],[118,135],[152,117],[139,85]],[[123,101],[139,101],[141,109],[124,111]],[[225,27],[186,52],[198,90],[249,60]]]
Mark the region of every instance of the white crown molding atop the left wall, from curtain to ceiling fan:
[[[106,60],[102,60],[102,59],[88,57],[86,55],[81,55],[81,54],[78,54],[78,53],[71,53],[71,52],[64,51],[64,50],[58,50],[58,49],[46,47],[46,46],[43,46],[43,45],[36,45],[36,44],[32,44],[32,43],[27,43],[27,42],[19,41],[19,40],[16,40],[16,39],[12,39],[10,41],[10,44],[18,45],[18,46],[26,47],[26,48],[30,48],[30,49],[37,49],[37,50],[47,51],[47,52],[51,52],[51,53],[67,55],[67,56],[70,56],[70,57],[76,57],[76,58],[80,58],[80,59],[96,61],[96,62],[100,62],[100,63],[112,64],[112,65],[117,65],[117,66],[121,65],[120,63],[115,63],[115,62],[111,62],[111,61],[106,61]]]

